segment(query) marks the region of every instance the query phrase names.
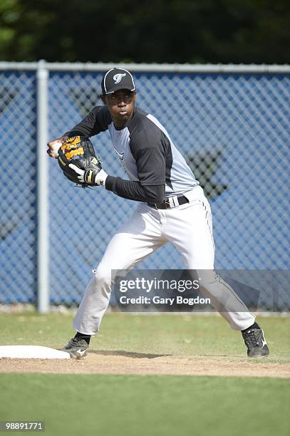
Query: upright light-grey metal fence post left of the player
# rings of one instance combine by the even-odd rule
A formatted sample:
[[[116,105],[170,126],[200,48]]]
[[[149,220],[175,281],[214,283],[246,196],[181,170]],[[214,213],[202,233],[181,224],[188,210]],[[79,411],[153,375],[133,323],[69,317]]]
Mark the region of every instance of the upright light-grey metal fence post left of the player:
[[[48,227],[48,69],[38,61],[37,83],[37,310],[49,308],[49,227]]]

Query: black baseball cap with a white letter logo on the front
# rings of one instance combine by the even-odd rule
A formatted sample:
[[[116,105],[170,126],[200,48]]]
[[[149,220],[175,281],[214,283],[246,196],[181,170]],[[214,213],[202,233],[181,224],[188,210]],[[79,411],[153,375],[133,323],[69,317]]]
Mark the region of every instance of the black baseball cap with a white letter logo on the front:
[[[132,74],[123,68],[112,68],[105,73],[102,80],[102,93],[108,95],[119,89],[135,90]]]

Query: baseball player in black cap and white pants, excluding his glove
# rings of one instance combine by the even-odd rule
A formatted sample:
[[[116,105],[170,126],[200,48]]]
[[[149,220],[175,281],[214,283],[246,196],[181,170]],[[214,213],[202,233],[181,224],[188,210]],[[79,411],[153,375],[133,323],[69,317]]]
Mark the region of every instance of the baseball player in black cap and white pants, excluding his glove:
[[[111,271],[130,269],[163,244],[172,242],[187,269],[198,271],[201,291],[234,330],[242,331],[249,357],[269,355],[264,333],[233,289],[214,272],[212,214],[202,187],[167,130],[150,113],[135,106],[132,74],[112,68],[101,83],[103,105],[95,106],[81,123],[48,142],[48,155],[58,157],[59,142],[91,137],[108,130],[113,150],[129,180],[93,173],[93,184],[137,202],[132,216],[110,240],[98,268],[93,270],[73,326],[76,336],[63,351],[72,358],[88,353],[90,337],[98,333],[108,308]],[[72,167],[83,182],[84,170]]]

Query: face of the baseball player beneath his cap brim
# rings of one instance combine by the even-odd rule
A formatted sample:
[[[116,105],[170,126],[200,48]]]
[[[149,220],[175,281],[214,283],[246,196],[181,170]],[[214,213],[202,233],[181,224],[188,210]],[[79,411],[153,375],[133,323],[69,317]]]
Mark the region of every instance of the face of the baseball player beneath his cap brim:
[[[126,89],[120,89],[103,98],[103,103],[108,106],[115,127],[125,127],[135,108],[135,99],[136,93]]]

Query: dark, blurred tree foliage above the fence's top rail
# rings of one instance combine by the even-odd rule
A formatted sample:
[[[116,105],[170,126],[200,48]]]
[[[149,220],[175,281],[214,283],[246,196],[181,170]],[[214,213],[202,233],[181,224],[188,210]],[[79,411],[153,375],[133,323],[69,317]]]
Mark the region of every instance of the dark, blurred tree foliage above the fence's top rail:
[[[289,0],[1,0],[6,61],[289,63]]]

